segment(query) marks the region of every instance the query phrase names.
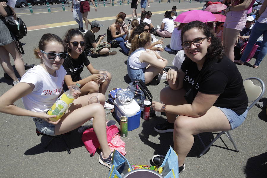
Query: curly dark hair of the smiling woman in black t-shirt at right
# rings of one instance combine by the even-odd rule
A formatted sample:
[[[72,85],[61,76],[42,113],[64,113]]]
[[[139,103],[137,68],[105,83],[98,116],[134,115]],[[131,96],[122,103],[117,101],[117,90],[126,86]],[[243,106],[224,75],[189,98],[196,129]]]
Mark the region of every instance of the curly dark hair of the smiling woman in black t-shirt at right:
[[[209,61],[213,61],[215,59],[219,59],[219,61],[222,60],[223,57],[222,42],[219,38],[215,36],[214,32],[211,31],[211,29],[203,22],[193,21],[186,24],[181,31],[181,41],[183,42],[184,33],[192,28],[198,28],[200,31],[203,32],[203,34],[206,37],[211,38],[211,44],[209,45],[207,50],[205,63],[208,63]],[[186,58],[188,57],[186,56]]]

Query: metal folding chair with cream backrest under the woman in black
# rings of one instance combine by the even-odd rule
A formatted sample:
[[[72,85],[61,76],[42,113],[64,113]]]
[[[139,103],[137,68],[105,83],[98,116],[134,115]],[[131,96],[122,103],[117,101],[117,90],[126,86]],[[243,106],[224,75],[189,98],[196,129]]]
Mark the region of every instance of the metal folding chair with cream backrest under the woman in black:
[[[251,81],[251,79],[257,80],[258,82],[260,82],[261,87],[258,85],[254,85],[253,82]],[[249,103],[251,103],[248,106],[248,111],[249,111],[263,96],[263,93],[265,91],[265,85],[264,85],[263,81],[257,77],[251,77],[251,78],[244,80],[243,85],[244,85],[245,91],[247,93],[248,101],[249,101]],[[200,138],[200,136],[198,134],[197,136],[200,139],[200,142],[204,147],[204,150],[198,155],[198,158],[200,158],[222,134],[225,134],[230,139],[233,146],[235,147],[236,152],[239,152],[239,150],[237,149],[236,144],[235,144],[233,138],[231,137],[229,131],[220,132],[220,134],[218,134],[208,146],[205,146],[205,144],[203,143],[202,139]]]

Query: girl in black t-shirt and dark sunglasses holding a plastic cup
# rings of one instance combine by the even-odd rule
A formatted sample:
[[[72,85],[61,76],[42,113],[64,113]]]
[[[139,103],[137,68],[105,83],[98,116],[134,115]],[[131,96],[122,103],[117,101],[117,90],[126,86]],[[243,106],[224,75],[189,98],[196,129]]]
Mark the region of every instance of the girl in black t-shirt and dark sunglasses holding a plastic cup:
[[[67,86],[75,85],[78,82],[81,84],[81,96],[97,92],[104,95],[111,81],[111,74],[107,72],[107,77],[105,81],[102,82],[103,76],[98,74],[99,70],[93,67],[84,52],[85,41],[82,33],[75,29],[70,29],[67,31],[63,42],[65,50],[69,54],[62,64],[67,71],[63,89],[65,90]],[[92,75],[82,79],[80,74],[84,67],[86,67]],[[105,109],[113,109],[114,105],[106,102],[104,107]]]

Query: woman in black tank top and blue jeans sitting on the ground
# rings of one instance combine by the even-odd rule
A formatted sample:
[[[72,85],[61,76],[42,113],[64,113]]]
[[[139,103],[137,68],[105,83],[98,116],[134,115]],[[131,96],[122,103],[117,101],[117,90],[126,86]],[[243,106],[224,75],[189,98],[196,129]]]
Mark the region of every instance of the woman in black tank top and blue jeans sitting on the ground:
[[[107,42],[111,43],[111,40],[114,39],[117,41],[117,44],[120,44],[120,42],[124,42],[123,35],[127,33],[123,32],[121,30],[121,27],[123,26],[124,21],[122,18],[117,18],[115,23],[112,23],[109,28],[107,29]]]

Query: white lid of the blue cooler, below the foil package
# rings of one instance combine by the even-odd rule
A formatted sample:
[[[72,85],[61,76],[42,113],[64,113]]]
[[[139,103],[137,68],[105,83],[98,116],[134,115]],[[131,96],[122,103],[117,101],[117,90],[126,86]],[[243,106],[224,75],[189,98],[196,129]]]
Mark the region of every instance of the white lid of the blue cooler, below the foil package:
[[[140,111],[140,106],[133,100],[129,104],[121,104],[118,98],[115,99],[115,105],[120,109],[123,115],[127,117],[131,117],[136,115],[137,112]]]

